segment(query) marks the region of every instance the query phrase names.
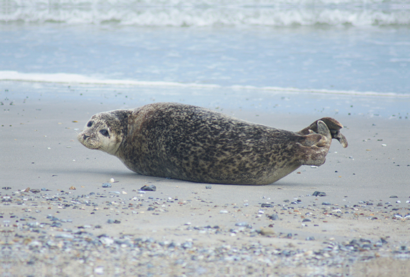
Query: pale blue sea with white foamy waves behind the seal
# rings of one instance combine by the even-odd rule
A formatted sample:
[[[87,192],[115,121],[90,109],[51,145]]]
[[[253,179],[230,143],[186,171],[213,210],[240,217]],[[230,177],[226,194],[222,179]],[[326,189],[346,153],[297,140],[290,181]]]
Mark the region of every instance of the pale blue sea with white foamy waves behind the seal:
[[[410,0],[0,0],[0,90],[405,120]]]

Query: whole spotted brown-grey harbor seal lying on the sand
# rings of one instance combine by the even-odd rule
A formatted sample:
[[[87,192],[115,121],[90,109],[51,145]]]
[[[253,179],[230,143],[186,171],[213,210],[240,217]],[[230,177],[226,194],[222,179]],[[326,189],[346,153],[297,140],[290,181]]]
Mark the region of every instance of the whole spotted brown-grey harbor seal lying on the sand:
[[[97,113],[78,141],[149,176],[220,184],[270,184],[302,165],[324,163],[343,126],[322,118],[298,132],[179,103]]]

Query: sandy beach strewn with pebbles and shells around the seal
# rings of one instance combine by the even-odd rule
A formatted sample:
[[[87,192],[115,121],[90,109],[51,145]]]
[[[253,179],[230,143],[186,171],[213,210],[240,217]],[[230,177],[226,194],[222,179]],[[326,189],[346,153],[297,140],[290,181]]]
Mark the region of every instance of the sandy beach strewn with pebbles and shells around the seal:
[[[410,271],[406,115],[333,114],[349,146],[334,140],[323,166],[302,166],[268,186],[206,189],[204,183],[135,174],[116,157],[77,142],[92,114],[124,104],[19,93],[2,93],[0,117],[4,276]],[[223,112],[292,131],[320,118]],[[111,178],[112,187],[103,188]],[[149,184],[155,192],[139,192]],[[316,191],[326,196],[312,196]]]

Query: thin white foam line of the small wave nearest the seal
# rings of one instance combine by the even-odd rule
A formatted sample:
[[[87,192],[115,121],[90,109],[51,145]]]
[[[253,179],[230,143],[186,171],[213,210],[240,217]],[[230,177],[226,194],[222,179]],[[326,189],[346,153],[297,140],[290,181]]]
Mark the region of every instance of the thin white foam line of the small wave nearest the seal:
[[[198,83],[178,83],[161,81],[138,81],[121,79],[99,79],[87,77],[79,74],[55,73],[19,73],[16,71],[0,71],[0,81],[24,81],[24,82],[47,82],[47,83],[74,83],[74,84],[95,84],[95,85],[132,85],[132,86],[172,86],[172,87],[192,87],[192,88],[223,88],[217,84],[198,84]],[[288,91],[290,93],[317,93],[317,94],[340,94],[358,96],[387,96],[408,98],[408,95],[397,93],[378,93],[375,91],[355,91],[355,90],[330,90],[330,89],[300,89],[293,87],[274,87],[274,86],[249,86],[232,85],[226,86],[231,89],[265,90],[265,91]]]

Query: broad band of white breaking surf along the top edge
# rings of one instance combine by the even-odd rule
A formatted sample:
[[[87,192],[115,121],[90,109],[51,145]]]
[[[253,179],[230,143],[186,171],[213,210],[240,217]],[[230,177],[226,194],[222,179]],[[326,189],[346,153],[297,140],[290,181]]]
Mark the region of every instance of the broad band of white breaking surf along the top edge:
[[[385,0],[0,0],[0,22],[121,26],[410,25],[410,3]]]

